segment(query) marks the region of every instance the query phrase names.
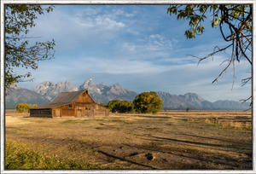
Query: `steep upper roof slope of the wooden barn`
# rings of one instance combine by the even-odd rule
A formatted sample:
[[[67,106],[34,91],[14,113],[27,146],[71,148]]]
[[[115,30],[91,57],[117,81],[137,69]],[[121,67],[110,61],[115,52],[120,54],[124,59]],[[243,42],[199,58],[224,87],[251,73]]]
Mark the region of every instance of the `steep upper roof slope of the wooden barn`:
[[[81,94],[84,93],[86,90],[79,90],[74,92],[62,92],[59,96],[55,98],[50,104],[52,103],[70,103],[75,102]]]

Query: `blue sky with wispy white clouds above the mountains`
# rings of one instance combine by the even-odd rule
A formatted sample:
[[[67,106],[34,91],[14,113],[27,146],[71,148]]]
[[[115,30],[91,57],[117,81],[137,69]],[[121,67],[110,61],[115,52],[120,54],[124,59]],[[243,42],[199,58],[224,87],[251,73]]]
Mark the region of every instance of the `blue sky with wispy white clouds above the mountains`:
[[[241,79],[250,76],[247,61],[236,62],[219,79],[230,58],[229,52],[201,61],[215,46],[228,43],[203,23],[206,31],[193,39],[184,32],[189,20],[177,20],[166,14],[168,5],[55,5],[53,12],[38,15],[28,36],[30,42],[55,39],[55,59],[38,62],[38,69],[15,68],[19,74],[32,73],[33,82],[20,85],[27,89],[44,81],[55,84],[70,81],[79,86],[87,78],[95,84],[119,84],[142,93],[164,91],[172,95],[196,93],[210,102],[239,101],[251,96],[251,84],[241,87]],[[210,17],[210,14],[207,14]]]

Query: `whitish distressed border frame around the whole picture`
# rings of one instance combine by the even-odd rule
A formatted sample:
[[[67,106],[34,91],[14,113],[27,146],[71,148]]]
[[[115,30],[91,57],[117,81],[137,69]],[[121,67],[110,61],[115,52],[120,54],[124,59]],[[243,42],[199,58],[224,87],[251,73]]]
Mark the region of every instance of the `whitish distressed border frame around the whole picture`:
[[[255,102],[254,100],[254,93],[255,93],[255,60],[256,56],[254,53],[256,53],[256,45],[254,44],[254,41],[256,40],[256,34],[255,34],[255,27],[256,27],[256,1],[255,0],[224,0],[224,1],[215,1],[215,0],[136,0],[136,1],[127,1],[127,0],[102,0],[102,1],[94,1],[94,0],[43,0],[43,1],[37,1],[37,0],[1,0],[1,60],[0,60],[0,112],[1,112],[1,148],[0,148],[0,154],[1,154],[1,173],[256,173],[256,163],[255,163],[255,127],[256,121],[254,116],[256,115],[255,111],[255,105],[253,105],[253,120],[252,120],[252,132],[253,132],[253,170],[245,171],[245,170],[215,170],[215,171],[209,171],[209,170],[88,170],[88,171],[82,171],[82,170],[4,170],[4,140],[5,140],[5,134],[4,134],[4,126],[5,126],[5,113],[4,113],[4,4],[7,3],[39,3],[39,4],[171,4],[171,3],[177,3],[177,4],[186,4],[186,3],[208,3],[208,4],[213,4],[213,3],[222,3],[222,4],[241,4],[241,3],[250,3],[253,4],[253,55],[252,55],[252,60],[253,60],[253,67],[252,67],[252,95],[253,95],[253,103]]]

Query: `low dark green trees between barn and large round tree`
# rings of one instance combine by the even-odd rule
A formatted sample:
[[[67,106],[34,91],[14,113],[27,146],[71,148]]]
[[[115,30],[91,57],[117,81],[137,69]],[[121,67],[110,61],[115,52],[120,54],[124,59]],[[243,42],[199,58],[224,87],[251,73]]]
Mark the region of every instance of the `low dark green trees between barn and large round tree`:
[[[118,112],[118,113],[132,113],[134,112],[133,104],[131,101],[120,101],[120,100],[112,100],[109,101],[105,106],[110,109],[110,112]]]

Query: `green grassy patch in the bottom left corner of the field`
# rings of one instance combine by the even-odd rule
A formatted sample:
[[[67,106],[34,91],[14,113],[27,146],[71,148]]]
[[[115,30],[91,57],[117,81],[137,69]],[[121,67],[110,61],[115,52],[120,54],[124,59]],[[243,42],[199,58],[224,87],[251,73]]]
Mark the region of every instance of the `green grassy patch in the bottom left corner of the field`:
[[[5,169],[111,169],[73,159],[50,158],[16,142],[5,143]]]

